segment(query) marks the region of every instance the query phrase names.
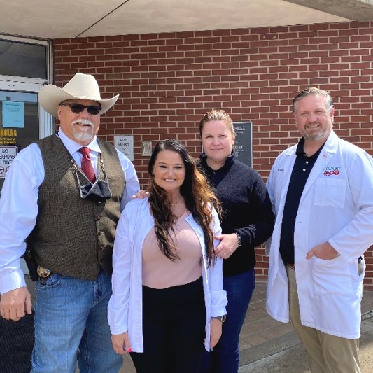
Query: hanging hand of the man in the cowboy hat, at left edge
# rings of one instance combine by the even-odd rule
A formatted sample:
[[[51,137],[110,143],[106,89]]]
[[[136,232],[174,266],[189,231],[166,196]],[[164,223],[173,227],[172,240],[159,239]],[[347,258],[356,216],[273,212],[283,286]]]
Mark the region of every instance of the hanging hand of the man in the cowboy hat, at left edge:
[[[6,320],[18,321],[31,314],[31,295],[26,286],[3,293],[0,299],[0,315]]]

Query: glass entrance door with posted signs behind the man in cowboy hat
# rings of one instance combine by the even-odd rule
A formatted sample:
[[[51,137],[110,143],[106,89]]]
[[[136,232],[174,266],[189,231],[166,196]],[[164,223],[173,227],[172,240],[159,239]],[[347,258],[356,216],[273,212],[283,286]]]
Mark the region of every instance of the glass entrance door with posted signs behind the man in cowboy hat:
[[[17,153],[54,132],[38,92],[52,83],[52,43],[0,34],[0,193]],[[21,267],[28,269],[24,260]]]

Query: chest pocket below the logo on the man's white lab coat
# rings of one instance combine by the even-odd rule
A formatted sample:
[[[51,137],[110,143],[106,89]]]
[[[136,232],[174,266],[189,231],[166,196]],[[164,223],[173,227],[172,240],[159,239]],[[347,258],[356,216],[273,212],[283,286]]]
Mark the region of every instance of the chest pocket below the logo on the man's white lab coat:
[[[315,206],[330,206],[342,209],[345,197],[346,180],[328,178],[328,176],[316,180]]]

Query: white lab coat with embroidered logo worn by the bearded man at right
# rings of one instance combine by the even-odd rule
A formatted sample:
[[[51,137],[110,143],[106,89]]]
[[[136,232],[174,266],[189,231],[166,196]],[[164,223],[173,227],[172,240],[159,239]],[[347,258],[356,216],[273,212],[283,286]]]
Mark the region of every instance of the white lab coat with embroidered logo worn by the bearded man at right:
[[[279,244],[296,148],[279,155],[267,181],[276,214],[269,252],[267,312],[282,322],[289,321],[289,307]],[[315,256],[307,260],[307,252],[325,241],[340,255],[333,260]],[[372,157],[331,132],[304,186],[295,220],[295,275],[302,325],[339,337],[360,337],[364,272],[359,276],[358,258],[372,244]]]

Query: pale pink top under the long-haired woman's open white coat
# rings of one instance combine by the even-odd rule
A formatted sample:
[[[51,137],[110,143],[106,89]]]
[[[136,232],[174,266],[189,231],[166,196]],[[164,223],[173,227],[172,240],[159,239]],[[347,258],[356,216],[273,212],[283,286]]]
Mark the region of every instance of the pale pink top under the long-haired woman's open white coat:
[[[185,285],[202,276],[202,248],[195,231],[186,222],[187,211],[176,220],[175,234],[171,237],[176,242],[180,260],[173,262],[163,255],[157,245],[154,229],[150,230],[143,241],[143,285],[149,288],[164,289],[171,286]]]

